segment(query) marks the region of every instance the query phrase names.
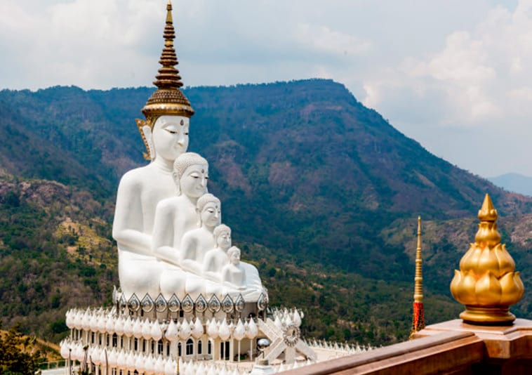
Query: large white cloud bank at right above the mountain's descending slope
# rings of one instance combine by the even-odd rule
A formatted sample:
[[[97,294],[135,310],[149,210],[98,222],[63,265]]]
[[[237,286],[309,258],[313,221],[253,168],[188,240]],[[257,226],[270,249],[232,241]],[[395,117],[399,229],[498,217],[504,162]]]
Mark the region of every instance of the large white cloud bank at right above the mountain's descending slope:
[[[439,50],[379,67],[364,91],[366,105],[451,162],[532,175],[532,1],[493,6]]]

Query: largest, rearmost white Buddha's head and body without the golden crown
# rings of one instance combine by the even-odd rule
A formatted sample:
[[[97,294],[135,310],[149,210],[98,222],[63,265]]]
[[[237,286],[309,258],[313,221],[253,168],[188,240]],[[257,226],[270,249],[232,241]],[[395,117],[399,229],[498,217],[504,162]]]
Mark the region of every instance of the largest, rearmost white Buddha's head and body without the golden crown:
[[[189,119],[182,116],[161,116],[153,130],[145,126],[145,134],[151,134],[152,162],[128,171],[120,180],[112,235],[118,245],[119,279],[126,297],[159,293],[160,265],[152,252],[155,207],[175,195],[172,166],[187,150],[188,128]]]

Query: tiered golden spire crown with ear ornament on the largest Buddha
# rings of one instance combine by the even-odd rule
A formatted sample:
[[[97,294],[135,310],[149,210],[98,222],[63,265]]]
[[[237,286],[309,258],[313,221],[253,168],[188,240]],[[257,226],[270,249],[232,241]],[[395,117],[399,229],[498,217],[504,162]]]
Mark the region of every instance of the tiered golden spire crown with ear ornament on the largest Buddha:
[[[137,126],[142,136],[142,140],[149,152],[149,146],[145,138],[145,133],[142,131],[144,126],[149,126],[153,129],[155,121],[159,116],[165,114],[191,117],[194,110],[190,106],[190,102],[180,91],[183,86],[179,70],[175,68],[178,65],[178,58],[175,55],[173,48],[173,39],[175,39],[175,31],[173,29],[172,20],[172,4],[168,0],[166,5],[166,25],[164,27],[164,48],[161,52],[159,64],[162,67],[159,69],[159,74],[155,76],[154,85],[157,86],[152,96],[148,99],[146,105],[142,108],[142,113],[146,117],[146,121],[137,120]],[[149,154],[145,154],[145,158],[149,159]]]

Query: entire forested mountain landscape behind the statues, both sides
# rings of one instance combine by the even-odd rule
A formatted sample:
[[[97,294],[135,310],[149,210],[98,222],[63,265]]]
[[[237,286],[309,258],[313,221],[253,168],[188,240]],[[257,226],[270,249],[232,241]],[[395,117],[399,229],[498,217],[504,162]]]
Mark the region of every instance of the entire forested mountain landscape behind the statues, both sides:
[[[0,287],[4,323],[20,320],[27,331],[57,337],[67,307],[109,298],[117,283],[114,194],[120,176],[145,163],[134,119],[152,91],[0,91],[0,260],[12,271]],[[189,150],[209,161],[223,221],[272,301],[307,309],[308,335],[363,343],[407,337],[418,215],[430,254],[427,321],[457,317],[461,306],[448,283],[474,238],[486,192],[518,269],[532,262],[523,239],[531,197],[435,157],[342,84],[312,79],[185,94],[196,110]],[[38,199],[27,185],[55,195]],[[530,276],[522,276],[526,284]],[[35,279],[46,288],[34,290]],[[27,286],[18,290],[20,280]],[[39,293],[44,301],[35,300]],[[515,309],[530,317],[530,306],[525,296]]]

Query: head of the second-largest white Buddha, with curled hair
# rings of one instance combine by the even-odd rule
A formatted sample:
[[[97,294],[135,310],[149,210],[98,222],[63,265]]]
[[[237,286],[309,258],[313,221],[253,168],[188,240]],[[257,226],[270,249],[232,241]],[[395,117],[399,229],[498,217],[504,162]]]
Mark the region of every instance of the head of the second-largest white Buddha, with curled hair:
[[[173,163],[173,180],[178,195],[201,197],[207,192],[208,162],[195,152],[180,154]]]

